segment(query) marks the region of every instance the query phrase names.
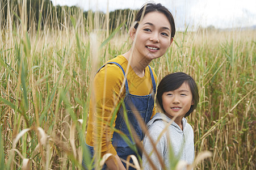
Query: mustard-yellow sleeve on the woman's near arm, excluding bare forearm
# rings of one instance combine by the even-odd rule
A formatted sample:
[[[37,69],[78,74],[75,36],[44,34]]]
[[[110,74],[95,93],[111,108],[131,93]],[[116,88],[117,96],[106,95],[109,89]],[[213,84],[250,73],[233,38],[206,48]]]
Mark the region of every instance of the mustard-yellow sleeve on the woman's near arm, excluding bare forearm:
[[[120,88],[123,73],[116,65],[108,64],[95,75],[90,99],[89,121],[86,135],[86,143],[90,146],[100,146],[95,152],[116,155],[112,146],[113,129],[110,127],[113,111],[120,101]],[[97,147],[96,147],[97,148]]]

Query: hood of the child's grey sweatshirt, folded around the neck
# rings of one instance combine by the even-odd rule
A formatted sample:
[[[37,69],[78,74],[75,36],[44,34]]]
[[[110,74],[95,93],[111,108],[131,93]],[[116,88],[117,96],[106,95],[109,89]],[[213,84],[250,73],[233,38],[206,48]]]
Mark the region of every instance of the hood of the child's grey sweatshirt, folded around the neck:
[[[149,127],[150,127],[154,122],[156,122],[156,121],[165,121],[165,122],[167,122],[167,124],[168,124],[170,121],[173,121],[173,120],[171,120],[171,118],[169,118],[168,116],[166,116],[166,115],[163,114],[163,113],[156,113],[156,114],[153,116],[152,120],[150,120],[146,126],[149,128]],[[183,117],[183,118],[182,118],[183,130],[186,128],[186,124],[187,124],[187,120],[186,120],[186,118]],[[179,125],[176,124],[174,121],[171,123],[171,126],[173,126],[173,128],[174,128],[175,130],[177,130],[179,133],[182,133],[182,132],[183,132],[183,131],[181,130],[181,127],[179,127]]]

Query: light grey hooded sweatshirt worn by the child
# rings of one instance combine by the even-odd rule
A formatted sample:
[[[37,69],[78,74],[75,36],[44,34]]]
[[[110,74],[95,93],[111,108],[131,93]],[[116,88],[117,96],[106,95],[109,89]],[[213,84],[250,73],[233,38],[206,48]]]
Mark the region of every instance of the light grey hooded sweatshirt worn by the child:
[[[183,130],[181,130],[179,125],[177,125],[175,122],[171,123],[165,133],[163,133],[160,141],[156,144],[158,137],[170,121],[171,119],[165,114],[156,113],[152,120],[150,120],[147,124],[149,135],[153,139],[157,151],[163,159],[166,169],[173,169],[173,167],[170,165],[171,159],[183,160],[188,164],[192,164],[195,158],[194,131],[191,125],[187,123],[186,118],[182,118]],[[154,152],[150,154],[153,147],[148,135],[144,137],[143,145],[145,152],[147,152],[147,154],[150,156],[150,159],[156,168],[163,169],[157,155],[154,154]],[[171,152],[173,152],[173,154],[171,154]],[[145,153],[142,155],[142,165],[144,169],[153,169],[150,166]]]

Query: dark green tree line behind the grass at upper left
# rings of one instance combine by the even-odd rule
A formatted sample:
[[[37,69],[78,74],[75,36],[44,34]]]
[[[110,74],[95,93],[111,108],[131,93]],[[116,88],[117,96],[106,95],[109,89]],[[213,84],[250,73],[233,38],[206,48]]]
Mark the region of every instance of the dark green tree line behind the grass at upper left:
[[[24,4],[26,2],[26,4]],[[22,12],[24,6],[27,9],[27,29],[40,25],[41,29],[45,26],[48,27],[66,27],[71,26],[71,16],[73,18],[81,17],[85,20],[85,24],[94,24],[95,12],[82,11],[77,6],[53,6],[50,0],[0,0],[0,25],[1,28],[6,27],[7,22],[11,21],[11,24],[19,22],[19,18],[22,18]],[[109,29],[110,31],[117,28],[120,23],[125,25],[131,25],[132,19],[136,11],[125,9],[115,10],[109,13]],[[41,17],[40,17],[41,16]],[[89,17],[90,16],[90,17]],[[106,20],[106,14],[99,12],[99,17],[102,20]],[[40,19],[41,18],[41,19]],[[91,20],[91,21],[89,21]]]

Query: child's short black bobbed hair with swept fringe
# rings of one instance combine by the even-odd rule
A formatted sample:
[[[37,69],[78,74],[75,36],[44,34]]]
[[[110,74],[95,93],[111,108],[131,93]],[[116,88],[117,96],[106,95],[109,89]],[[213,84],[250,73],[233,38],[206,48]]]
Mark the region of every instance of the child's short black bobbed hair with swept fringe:
[[[190,87],[190,90],[192,93],[192,101],[194,102],[194,105],[191,105],[190,110],[185,114],[184,117],[189,116],[190,113],[194,111],[199,101],[198,86],[196,85],[195,80],[190,75],[187,75],[186,73],[183,73],[183,72],[168,74],[159,83],[157,87],[157,102],[160,105],[162,111],[165,112],[165,109],[163,109],[163,103],[162,103],[163,93],[178,89],[179,87],[182,86],[184,82],[186,82]]]

